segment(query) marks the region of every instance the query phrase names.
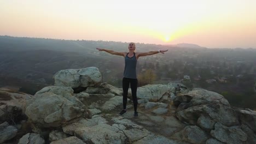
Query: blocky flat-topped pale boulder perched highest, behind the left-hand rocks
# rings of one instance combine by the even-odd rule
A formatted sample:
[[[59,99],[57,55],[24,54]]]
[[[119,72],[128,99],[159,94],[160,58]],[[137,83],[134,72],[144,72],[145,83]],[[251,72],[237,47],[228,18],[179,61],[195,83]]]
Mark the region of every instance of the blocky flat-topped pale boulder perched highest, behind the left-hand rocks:
[[[55,86],[92,87],[100,85],[102,76],[98,68],[60,70],[54,75]]]

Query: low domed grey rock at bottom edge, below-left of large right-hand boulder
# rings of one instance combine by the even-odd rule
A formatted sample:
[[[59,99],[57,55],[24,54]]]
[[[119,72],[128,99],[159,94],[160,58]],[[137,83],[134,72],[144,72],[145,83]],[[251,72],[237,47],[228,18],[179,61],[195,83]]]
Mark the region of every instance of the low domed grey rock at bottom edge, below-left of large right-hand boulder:
[[[205,131],[197,127],[196,125],[189,125],[185,127],[183,130],[179,131],[178,133],[174,134],[174,137],[177,140],[184,140],[190,143],[205,143],[209,136]]]

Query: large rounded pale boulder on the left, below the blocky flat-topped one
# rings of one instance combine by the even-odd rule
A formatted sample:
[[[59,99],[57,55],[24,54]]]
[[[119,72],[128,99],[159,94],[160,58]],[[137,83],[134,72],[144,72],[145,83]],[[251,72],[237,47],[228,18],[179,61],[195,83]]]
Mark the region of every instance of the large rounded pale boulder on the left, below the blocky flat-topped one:
[[[25,113],[40,127],[59,127],[73,119],[88,116],[85,106],[77,101],[51,92],[40,93],[27,100]]]

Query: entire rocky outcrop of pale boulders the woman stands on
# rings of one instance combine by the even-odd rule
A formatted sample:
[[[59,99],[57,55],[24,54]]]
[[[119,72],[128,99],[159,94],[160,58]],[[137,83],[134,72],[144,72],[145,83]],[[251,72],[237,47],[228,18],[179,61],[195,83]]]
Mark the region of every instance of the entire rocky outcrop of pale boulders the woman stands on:
[[[59,71],[56,83],[61,84],[45,87],[26,101],[28,123],[38,134],[25,133],[20,143],[42,137],[49,143],[256,143],[255,111],[232,107],[218,93],[189,91],[181,83],[147,85],[138,88],[139,117],[133,117],[132,100],[127,112],[117,116],[123,109],[122,90],[90,78],[95,74],[88,71],[97,69],[86,71]],[[75,93],[76,87],[85,89]]]

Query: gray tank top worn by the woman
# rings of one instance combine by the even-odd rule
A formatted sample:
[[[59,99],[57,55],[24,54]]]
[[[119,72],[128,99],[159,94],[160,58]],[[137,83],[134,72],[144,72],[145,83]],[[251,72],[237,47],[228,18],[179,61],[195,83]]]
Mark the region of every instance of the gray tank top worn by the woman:
[[[125,56],[125,70],[124,70],[124,77],[130,79],[137,79],[136,76],[136,64],[137,59],[135,56],[135,52],[133,52],[133,57],[128,57],[128,53]]]

